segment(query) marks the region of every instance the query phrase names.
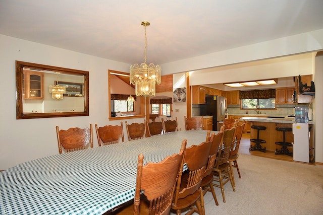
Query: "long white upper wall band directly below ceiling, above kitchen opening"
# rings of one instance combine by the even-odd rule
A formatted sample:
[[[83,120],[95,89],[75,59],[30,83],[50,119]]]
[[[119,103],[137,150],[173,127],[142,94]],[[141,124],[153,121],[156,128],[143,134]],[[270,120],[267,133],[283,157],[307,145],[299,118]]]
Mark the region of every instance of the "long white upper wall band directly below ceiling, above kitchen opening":
[[[323,29],[161,64],[163,75],[323,49]]]

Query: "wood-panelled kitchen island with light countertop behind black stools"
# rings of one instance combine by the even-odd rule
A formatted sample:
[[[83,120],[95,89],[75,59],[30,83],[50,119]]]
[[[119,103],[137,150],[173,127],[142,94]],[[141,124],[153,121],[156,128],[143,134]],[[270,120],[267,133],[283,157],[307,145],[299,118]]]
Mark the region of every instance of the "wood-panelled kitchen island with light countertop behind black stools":
[[[275,152],[276,149],[281,149],[281,146],[276,145],[276,142],[283,141],[283,132],[277,131],[276,127],[288,127],[292,128],[295,120],[284,119],[284,118],[263,118],[263,117],[241,117],[240,121],[249,121],[250,125],[265,126],[266,130],[259,131],[259,138],[266,140],[265,144],[262,144],[262,147],[266,148],[266,151]],[[309,139],[309,154],[310,162],[313,162],[314,158],[314,143],[313,143],[313,122],[309,121],[308,126],[310,128],[310,139]],[[257,138],[257,130],[250,130],[250,138]],[[294,135],[292,131],[286,132],[286,142],[294,142]],[[254,146],[254,143],[251,142],[251,146]],[[287,147],[289,152],[293,152],[293,147]],[[276,155],[280,156],[280,155]]]

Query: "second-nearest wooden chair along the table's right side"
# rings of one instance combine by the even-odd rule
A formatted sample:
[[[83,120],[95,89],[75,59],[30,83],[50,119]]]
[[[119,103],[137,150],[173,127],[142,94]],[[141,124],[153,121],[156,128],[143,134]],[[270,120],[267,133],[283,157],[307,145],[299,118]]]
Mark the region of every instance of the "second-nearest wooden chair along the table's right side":
[[[205,141],[186,149],[184,163],[186,163],[188,169],[182,175],[179,175],[172,204],[172,209],[176,210],[177,214],[181,214],[181,210],[188,207],[190,208],[188,214],[192,214],[194,211],[204,214],[201,182],[210,148],[211,142]]]

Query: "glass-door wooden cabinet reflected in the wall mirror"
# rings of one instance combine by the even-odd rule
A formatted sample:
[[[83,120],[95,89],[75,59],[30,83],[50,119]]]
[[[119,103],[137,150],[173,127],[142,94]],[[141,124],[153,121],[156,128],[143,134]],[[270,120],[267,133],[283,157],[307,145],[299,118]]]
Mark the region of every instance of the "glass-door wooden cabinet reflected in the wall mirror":
[[[23,95],[24,99],[44,99],[44,73],[24,70]]]

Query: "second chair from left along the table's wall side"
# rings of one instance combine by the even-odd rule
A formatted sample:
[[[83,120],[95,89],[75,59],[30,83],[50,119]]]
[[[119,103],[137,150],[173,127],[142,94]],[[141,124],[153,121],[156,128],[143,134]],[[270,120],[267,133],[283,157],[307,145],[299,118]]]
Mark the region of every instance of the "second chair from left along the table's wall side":
[[[105,125],[103,127],[98,127],[95,124],[97,142],[99,147],[101,145],[110,145],[110,144],[118,144],[121,140],[124,142],[125,138],[123,135],[123,124],[120,122],[121,125]]]

